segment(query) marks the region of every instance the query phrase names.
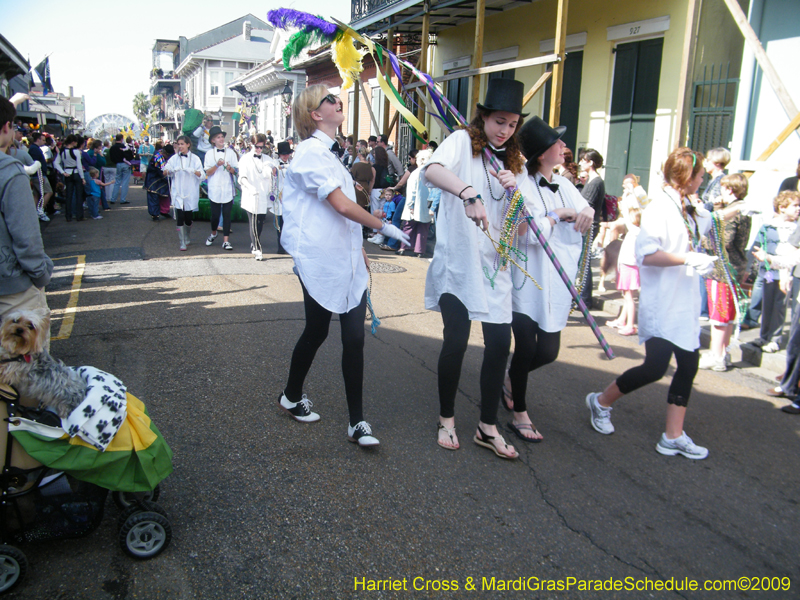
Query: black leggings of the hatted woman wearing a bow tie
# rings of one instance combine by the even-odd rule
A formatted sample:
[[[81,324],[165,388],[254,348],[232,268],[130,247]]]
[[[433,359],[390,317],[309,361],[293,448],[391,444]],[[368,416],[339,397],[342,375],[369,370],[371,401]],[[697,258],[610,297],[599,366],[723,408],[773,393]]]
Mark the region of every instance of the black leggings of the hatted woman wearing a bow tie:
[[[514,331],[514,356],[508,369],[511,395],[514,398],[514,410],[525,412],[528,373],[558,358],[561,332],[542,331],[536,321],[517,312],[512,313],[511,329]]]

